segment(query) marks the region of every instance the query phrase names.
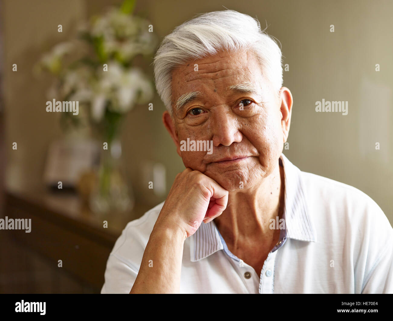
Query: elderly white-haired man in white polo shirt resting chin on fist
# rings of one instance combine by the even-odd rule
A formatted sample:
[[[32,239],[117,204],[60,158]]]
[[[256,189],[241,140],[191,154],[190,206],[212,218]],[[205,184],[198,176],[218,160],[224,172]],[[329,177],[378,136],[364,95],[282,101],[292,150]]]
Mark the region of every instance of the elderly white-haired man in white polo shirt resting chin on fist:
[[[185,22],[154,73],[186,169],[125,227],[101,293],[393,292],[393,229],[378,205],[282,154],[292,95],[257,20],[225,10]]]

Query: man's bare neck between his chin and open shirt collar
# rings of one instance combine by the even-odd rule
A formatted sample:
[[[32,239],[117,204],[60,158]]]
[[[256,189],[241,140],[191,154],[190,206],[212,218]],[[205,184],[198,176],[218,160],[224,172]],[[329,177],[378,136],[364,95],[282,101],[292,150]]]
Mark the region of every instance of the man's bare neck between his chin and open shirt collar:
[[[274,239],[279,231],[269,228],[269,220],[282,218],[284,185],[284,170],[277,164],[259,184],[230,192],[226,210],[214,219],[224,239],[231,245],[246,239]]]

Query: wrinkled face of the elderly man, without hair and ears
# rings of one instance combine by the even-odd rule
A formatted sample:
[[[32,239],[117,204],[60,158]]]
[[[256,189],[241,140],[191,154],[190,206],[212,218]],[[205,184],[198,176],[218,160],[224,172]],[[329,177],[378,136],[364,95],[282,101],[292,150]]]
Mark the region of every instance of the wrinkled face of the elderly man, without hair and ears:
[[[244,83],[252,84],[255,92],[228,88]],[[181,95],[196,91],[202,94],[176,110]],[[220,52],[174,69],[173,137],[185,167],[199,170],[228,191],[260,183],[277,166],[286,141],[281,105],[251,51]],[[213,141],[213,152],[180,150],[187,138]],[[222,161],[228,158],[237,159]]]

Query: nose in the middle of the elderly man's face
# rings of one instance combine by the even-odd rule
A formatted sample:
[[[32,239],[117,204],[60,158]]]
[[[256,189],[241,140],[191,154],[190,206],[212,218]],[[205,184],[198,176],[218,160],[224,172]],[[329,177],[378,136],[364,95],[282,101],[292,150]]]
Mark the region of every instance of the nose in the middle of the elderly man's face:
[[[213,134],[213,145],[230,146],[231,143],[240,143],[242,133],[239,131],[239,122],[236,115],[231,111],[220,109],[214,112],[210,123]]]

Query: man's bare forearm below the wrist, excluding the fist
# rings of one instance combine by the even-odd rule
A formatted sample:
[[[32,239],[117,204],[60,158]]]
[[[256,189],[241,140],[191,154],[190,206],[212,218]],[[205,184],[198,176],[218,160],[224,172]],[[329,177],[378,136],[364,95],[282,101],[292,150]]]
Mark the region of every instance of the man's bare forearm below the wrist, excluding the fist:
[[[179,293],[185,238],[178,230],[153,228],[130,294]]]

